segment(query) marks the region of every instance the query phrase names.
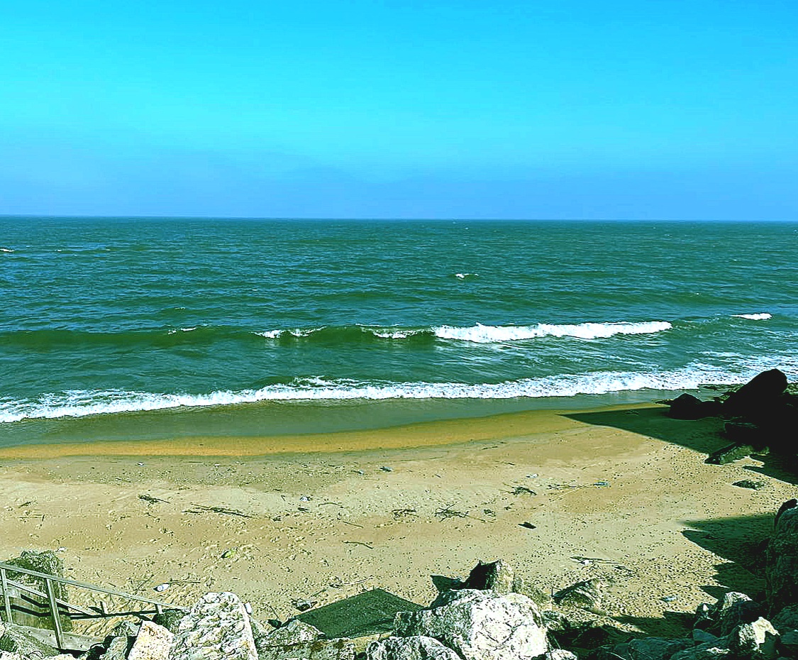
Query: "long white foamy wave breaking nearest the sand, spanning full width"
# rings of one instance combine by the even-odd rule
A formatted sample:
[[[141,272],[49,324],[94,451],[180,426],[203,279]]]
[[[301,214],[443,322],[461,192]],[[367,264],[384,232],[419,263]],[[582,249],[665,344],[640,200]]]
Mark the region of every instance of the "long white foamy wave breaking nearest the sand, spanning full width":
[[[25,419],[85,417],[180,407],[238,405],[258,401],[353,401],[387,399],[512,399],[574,397],[640,389],[697,389],[701,385],[739,385],[762,370],[779,367],[798,378],[798,359],[748,358],[736,370],[693,363],[679,370],[606,371],[523,378],[500,383],[353,381],[295,379],[260,389],[204,394],[148,393],[121,389],[69,390],[23,400],[0,398],[0,423]]]

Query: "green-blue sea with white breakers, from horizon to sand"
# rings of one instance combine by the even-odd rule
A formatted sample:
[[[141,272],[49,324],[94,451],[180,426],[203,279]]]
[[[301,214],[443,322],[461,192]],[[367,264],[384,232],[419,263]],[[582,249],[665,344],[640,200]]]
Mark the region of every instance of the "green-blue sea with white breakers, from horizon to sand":
[[[0,446],[798,381],[798,223],[0,217]]]

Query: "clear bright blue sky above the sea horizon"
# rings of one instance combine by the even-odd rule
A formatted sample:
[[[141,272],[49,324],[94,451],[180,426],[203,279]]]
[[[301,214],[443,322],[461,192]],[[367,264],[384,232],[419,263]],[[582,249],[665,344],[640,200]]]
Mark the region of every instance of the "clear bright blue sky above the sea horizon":
[[[0,215],[798,219],[796,182],[796,0],[0,0]]]

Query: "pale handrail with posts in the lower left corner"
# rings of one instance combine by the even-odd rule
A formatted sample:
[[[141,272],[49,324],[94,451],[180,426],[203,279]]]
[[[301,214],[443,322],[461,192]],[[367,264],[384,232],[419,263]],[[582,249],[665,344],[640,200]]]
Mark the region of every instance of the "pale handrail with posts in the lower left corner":
[[[18,575],[30,575],[31,577],[41,579],[44,582],[45,591],[42,593],[35,587],[29,584],[18,582],[17,580],[10,579],[9,573]],[[65,600],[59,599],[55,595],[53,583],[65,584],[70,587],[77,587],[86,591],[94,591],[100,594],[111,596],[119,596],[120,598],[132,600],[136,603],[147,603],[154,606],[154,609],[136,610],[125,612],[109,612],[105,601],[101,601],[101,607],[92,607],[91,610],[67,603]],[[46,573],[39,573],[38,571],[30,571],[27,568],[20,568],[10,563],[0,562],[0,589],[2,589],[3,610],[6,613],[6,622],[14,623],[14,607],[11,603],[11,595],[9,593],[10,587],[15,590],[25,592],[30,595],[38,596],[38,598],[46,599],[49,615],[53,619],[53,631],[55,633],[55,640],[58,650],[64,650],[64,630],[61,626],[61,616],[68,617],[69,619],[109,619],[111,617],[124,616],[124,615],[155,615],[160,614],[164,609],[168,610],[182,610],[188,611],[186,607],[180,605],[173,605],[172,603],[161,603],[157,600],[142,598],[141,596],[125,593],[124,591],[117,591],[114,589],[105,589],[105,587],[97,587],[97,585],[85,582],[77,582],[75,580],[59,578],[56,575],[48,575]]]

